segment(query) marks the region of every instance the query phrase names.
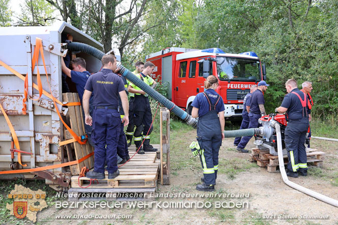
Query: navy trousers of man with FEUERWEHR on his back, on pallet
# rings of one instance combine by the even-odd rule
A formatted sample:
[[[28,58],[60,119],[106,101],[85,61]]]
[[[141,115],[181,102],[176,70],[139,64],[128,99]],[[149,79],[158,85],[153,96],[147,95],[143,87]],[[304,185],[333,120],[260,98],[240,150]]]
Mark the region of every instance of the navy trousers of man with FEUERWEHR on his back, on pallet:
[[[94,143],[94,171],[104,173],[107,161],[108,173],[117,170],[117,142],[120,135],[121,117],[115,109],[94,109],[93,131],[91,140]],[[106,147],[107,146],[107,147]]]

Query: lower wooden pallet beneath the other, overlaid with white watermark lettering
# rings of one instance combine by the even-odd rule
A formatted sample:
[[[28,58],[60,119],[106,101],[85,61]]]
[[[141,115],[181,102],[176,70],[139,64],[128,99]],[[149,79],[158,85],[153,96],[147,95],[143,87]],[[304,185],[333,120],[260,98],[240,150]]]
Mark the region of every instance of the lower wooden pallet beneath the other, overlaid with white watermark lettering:
[[[153,201],[156,187],[148,188],[70,188],[68,201]]]

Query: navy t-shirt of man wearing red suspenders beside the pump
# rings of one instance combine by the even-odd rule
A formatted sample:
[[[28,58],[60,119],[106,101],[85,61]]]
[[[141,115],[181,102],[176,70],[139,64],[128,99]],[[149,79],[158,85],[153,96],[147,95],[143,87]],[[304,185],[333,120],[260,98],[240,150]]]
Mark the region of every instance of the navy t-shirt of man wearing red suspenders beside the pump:
[[[295,88],[290,93],[285,95],[281,106],[288,109],[289,119],[301,119],[303,117],[303,107],[301,106],[298,96],[292,92],[298,93],[300,98],[304,100],[304,92],[300,91],[298,88]],[[306,100],[306,103],[307,102],[308,100]],[[308,109],[307,106],[308,105],[306,104],[306,109]],[[307,117],[305,110],[304,117]]]

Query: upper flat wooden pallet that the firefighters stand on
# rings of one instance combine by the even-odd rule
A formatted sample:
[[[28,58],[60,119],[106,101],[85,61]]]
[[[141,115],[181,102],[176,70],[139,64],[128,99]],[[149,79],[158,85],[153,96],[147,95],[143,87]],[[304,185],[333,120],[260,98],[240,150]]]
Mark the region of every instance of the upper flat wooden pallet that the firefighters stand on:
[[[133,155],[132,152],[129,153]],[[92,181],[87,188],[139,188],[156,187],[160,160],[156,159],[156,152],[146,152],[146,154],[136,154],[130,162],[118,168],[120,175],[115,179],[108,179],[108,172],[105,171],[106,178]],[[86,177],[73,176],[71,180],[72,188],[87,186],[90,179]]]

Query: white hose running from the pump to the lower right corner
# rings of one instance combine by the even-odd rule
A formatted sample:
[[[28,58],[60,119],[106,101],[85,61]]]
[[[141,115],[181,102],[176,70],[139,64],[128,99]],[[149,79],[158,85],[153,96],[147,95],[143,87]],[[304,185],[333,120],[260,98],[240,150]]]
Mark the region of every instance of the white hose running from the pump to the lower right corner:
[[[277,135],[277,149],[278,149],[278,160],[279,160],[279,166],[280,166],[280,171],[282,174],[282,178],[284,183],[286,183],[287,185],[289,185],[290,187],[299,190],[300,192],[303,192],[306,195],[309,195],[311,197],[314,197],[320,201],[323,201],[327,204],[330,204],[332,206],[338,207],[338,201],[335,199],[331,199],[327,196],[324,196],[322,194],[319,194],[316,191],[310,190],[308,188],[302,187],[298,184],[295,184],[294,182],[291,182],[288,179],[288,176],[286,175],[285,172],[285,167],[284,167],[284,159],[283,159],[283,147],[282,147],[282,137],[281,137],[281,126],[275,122],[272,124],[272,126],[274,126],[275,130],[276,130],[276,135]]]

